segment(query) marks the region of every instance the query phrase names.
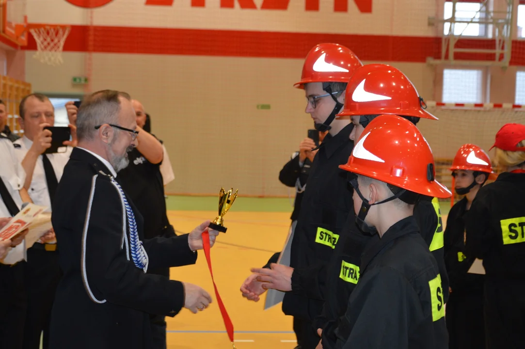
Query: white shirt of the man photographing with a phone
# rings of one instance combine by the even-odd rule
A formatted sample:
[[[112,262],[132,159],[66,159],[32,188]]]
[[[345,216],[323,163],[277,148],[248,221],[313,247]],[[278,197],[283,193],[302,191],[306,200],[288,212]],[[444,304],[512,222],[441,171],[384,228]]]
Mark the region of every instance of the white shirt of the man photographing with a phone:
[[[33,145],[33,141],[29,140],[26,136],[23,136],[13,143],[19,145],[19,147],[15,147],[15,154],[18,158],[18,162],[22,164],[22,160],[24,160],[31,145]],[[69,155],[71,155],[72,149],[72,147],[68,146],[64,153],[46,154],[51,166],[53,166],[53,170],[55,170],[57,182],[60,182],[60,178],[62,177],[62,173],[64,173],[64,167],[69,161]],[[31,184],[27,192],[35,205],[47,206],[47,211],[50,212],[51,199],[49,198],[49,191],[47,189],[46,173],[44,172],[42,156],[43,155],[40,154],[37,158],[35,169],[33,170],[33,178],[31,178]]]

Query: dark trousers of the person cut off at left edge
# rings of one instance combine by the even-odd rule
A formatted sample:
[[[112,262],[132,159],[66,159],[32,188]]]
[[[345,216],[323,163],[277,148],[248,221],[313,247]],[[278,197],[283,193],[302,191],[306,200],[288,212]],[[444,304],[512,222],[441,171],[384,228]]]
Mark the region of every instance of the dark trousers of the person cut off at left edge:
[[[0,349],[22,349],[26,318],[26,262],[0,264]]]

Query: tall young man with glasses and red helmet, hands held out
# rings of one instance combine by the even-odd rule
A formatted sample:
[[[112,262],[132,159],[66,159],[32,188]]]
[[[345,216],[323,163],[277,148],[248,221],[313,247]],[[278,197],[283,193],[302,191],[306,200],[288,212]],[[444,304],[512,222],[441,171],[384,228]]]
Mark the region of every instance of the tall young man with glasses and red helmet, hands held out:
[[[311,115],[315,128],[328,134],[310,169],[297,226],[292,233],[290,266],[272,264],[271,269],[253,269],[258,275],[248,278],[241,287],[245,297],[253,300],[258,300],[267,289],[286,292],[282,310],[294,317],[301,349],[313,349],[319,342],[312,321],[321,313],[326,293],[326,266],[352,210],[351,188],[338,166],[344,164],[352,152],[349,136],[353,125],[349,120],[335,120],[335,115],[343,107],[346,83],[361,66],[350,49],[337,44],[320,44],[308,53],[301,81],[295,87],[304,89],[305,112]]]

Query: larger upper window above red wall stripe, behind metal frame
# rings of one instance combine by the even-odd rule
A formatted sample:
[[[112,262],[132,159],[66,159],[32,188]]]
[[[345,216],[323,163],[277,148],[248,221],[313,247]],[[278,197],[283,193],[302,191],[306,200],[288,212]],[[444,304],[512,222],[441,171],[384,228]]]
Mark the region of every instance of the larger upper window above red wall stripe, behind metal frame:
[[[485,36],[485,25],[476,24],[475,22],[476,18],[479,20],[483,16],[480,10],[480,3],[456,3],[455,20],[465,23],[454,23],[454,35]],[[451,2],[445,2],[443,15],[445,19],[452,17]],[[472,23],[468,23],[470,20],[472,20]],[[450,23],[444,23],[443,34],[448,35],[449,30]]]

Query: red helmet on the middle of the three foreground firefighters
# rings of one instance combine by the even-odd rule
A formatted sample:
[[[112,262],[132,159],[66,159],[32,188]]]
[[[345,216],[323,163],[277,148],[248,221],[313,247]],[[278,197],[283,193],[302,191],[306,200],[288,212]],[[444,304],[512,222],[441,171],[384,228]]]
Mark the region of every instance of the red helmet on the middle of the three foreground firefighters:
[[[423,109],[423,104],[423,98],[400,70],[386,64],[368,64],[356,69],[348,82],[344,108],[337,119],[394,114],[438,120]]]

